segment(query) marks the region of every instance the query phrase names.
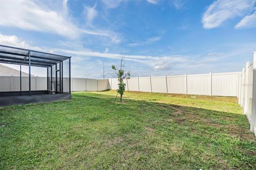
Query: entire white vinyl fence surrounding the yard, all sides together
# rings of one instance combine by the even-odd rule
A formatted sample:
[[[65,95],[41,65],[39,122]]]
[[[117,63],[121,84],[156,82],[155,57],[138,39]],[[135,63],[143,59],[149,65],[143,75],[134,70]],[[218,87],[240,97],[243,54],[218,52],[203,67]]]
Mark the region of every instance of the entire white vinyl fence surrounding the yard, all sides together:
[[[64,78],[65,81],[68,81]],[[31,90],[46,90],[45,77],[31,77]],[[256,135],[256,52],[242,72],[185,74],[162,77],[137,77],[124,80],[127,91],[162,92],[237,97],[244,109],[251,131]],[[71,78],[71,91],[103,91],[117,89],[113,79]],[[22,91],[28,90],[28,77],[22,77]],[[0,76],[0,91],[20,91],[20,78]]]

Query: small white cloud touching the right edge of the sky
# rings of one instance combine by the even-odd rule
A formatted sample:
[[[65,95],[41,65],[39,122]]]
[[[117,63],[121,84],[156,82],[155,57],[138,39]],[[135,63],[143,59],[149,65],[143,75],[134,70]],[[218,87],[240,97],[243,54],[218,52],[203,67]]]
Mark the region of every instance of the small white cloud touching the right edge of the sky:
[[[241,21],[239,21],[236,25],[236,29],[241,28],[253,28],[256,27],[256,12],[251,15],[245,16]]]

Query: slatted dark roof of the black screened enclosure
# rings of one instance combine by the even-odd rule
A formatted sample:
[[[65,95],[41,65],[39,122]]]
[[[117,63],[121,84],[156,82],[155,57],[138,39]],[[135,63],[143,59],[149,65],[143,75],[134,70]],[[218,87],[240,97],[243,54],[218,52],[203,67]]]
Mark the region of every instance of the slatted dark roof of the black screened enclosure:
[[[70,58],[69,56],[0,45],[0,63],[29,65],[29,53],[30,65],[37,67],[49,67]]]

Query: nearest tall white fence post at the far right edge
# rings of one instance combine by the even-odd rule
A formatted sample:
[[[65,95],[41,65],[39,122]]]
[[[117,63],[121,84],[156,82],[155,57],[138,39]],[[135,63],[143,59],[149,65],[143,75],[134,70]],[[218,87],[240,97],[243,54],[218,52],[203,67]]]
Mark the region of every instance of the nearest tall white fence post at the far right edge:
[[[252,116],[250,130],[256,136],[256,52],[253,52],[253,78],[252,78]]]

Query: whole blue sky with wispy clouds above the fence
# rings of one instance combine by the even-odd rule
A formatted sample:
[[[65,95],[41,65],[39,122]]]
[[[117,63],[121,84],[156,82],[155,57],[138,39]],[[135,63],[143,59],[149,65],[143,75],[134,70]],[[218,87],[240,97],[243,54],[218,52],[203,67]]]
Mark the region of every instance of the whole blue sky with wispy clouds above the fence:
[[[237,72],[256,51],[255,4],[2,0],[0,44],[71,56],[71,77],[101,79],[104,65],[114,78],[121,53],[131,77]]]

